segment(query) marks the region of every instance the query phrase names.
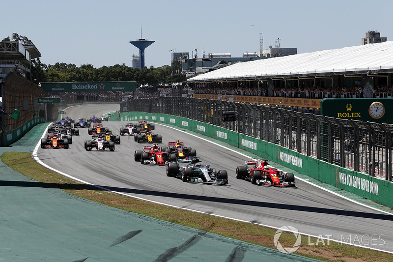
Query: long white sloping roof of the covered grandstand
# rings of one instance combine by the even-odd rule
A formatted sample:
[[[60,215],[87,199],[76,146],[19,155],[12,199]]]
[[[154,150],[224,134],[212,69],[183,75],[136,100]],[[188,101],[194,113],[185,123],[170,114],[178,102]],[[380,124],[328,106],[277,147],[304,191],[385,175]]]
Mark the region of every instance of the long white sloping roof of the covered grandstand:
[[[188,82],[393,72],[393,41],[236,63]]]

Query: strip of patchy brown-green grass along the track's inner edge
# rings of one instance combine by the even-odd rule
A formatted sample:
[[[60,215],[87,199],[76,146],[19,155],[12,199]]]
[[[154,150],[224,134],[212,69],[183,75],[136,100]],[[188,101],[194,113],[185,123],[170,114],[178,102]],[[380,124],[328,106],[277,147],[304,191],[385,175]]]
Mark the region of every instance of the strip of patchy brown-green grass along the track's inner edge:
[[[201,231],[220,234],[225,237],[242,240],[255,245],[276,249],[273,241],[276,233],[275,229],[264,228],[250,223],[238,222],[207,214],[185,211],[165,205],[152,204],[146,201],[103,191],[93,186],[76,182],[41,166],[32,159],[30,153],[5,152],[1,155],[1,161],[20,174],[39,182],[46,183],[49,187],[61,189],[69,194],[90,201]],[[296,237],[293,233],[282,233],[280,236],[280,243],[284,248],[293,247],[295,241]],[[344,245],[333,241],[327,244],[326,239],[322,241],[322,239],[303,236],[302,244],[294,253],[329,262],[393,261],[393,256],[387,253]]]

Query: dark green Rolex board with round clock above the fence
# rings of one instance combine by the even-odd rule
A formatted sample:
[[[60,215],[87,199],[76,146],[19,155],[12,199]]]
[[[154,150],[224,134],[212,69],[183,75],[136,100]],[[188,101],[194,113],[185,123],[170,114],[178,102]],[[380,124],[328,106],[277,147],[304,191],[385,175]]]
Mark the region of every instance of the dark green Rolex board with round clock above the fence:
[[[325,98],[321,115],[376,123],[393,123],[393,98]]]

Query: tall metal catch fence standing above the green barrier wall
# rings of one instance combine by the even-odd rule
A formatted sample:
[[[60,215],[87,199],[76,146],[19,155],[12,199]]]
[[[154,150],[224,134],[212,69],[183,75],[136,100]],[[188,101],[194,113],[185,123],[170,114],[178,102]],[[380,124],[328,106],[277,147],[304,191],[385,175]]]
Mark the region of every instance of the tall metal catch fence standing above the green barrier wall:
[[[183,116],[276,143],[357,172],[392,180],[392,124],[337,119],[275,107],[188,97],[123,102],[128,111]],[[224,122],[223,112],[236,112]]]

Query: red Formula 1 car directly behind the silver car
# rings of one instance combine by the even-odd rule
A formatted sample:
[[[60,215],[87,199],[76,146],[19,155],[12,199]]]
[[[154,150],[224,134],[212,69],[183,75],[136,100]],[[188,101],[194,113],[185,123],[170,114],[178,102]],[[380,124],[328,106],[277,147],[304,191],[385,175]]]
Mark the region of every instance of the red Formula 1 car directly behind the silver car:
[[[162,151],[159,146],[143,146],[143,151],[135,150],[134,160],[143,164],[166,165],[170,161],[176,161],[176,155]]]

